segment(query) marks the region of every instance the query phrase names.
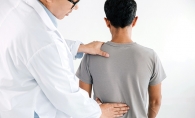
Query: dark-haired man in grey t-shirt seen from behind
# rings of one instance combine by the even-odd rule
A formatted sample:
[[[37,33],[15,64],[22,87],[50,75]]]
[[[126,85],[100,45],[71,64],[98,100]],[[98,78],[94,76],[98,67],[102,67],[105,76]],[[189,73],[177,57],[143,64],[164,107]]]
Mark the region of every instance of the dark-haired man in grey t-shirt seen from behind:
[[[155,118],[166,75],[157,54],[131,38],[136,9],[134,0],[106,0],[105,22],[112,39],[102,50],[110,57],[85,55],[76,75],[90,97],[93,86],[94,98],[101,102],[128,104],[130,110],[122,118]]]

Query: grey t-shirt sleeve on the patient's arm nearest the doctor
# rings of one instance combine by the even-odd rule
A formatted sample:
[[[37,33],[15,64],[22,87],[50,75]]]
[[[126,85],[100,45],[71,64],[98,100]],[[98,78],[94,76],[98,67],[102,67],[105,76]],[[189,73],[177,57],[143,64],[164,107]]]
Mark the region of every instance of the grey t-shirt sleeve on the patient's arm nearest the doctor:
[[[80,66],[76,72],[76,76],[83,82],[87,84],[93,84],[93,80],[89,71],[89,56],[85,54],[83,57]]]

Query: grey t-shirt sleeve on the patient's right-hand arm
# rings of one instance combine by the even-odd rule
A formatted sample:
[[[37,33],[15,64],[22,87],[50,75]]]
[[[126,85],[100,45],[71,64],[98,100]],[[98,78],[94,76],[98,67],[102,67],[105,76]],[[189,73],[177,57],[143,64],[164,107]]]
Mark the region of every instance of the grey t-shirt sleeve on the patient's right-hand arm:
[[[150,78],[150,86],[161,83],[166,78],[165,71],[158,55],[154,52],[153,55],[153,74]]]

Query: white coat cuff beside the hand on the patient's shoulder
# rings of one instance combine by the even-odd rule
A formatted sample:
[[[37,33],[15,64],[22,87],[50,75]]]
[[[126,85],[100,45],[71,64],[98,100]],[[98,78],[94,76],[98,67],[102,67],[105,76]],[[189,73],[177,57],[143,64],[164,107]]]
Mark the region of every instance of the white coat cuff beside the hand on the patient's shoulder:
[[[68,40],[68,39],[65,39],[65,41],[66,41],[74,59],[80,59],[83,57],[82,52],[77,53],[80,44],[82,44],[80,41],[74,41],[74,40]]]

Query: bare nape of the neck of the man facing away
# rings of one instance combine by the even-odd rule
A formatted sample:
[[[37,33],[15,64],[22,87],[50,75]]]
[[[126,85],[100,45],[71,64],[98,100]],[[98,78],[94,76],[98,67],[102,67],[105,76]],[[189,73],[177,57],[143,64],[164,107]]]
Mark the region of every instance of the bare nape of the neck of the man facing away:
[[[131,39],[132,27],[111,28],[112,40],[114,43],[132,43]]]

